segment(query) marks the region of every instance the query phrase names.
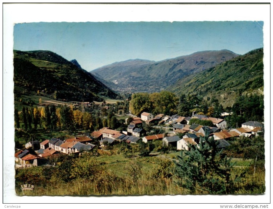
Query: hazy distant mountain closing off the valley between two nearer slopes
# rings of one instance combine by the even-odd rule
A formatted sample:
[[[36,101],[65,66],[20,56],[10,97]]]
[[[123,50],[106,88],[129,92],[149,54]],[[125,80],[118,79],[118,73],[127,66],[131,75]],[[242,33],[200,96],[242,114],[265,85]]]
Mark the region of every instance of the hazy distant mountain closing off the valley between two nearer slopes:
[[[118,90],[155,92],[189,74],[201,72],[237,56],[229,50],[203,51],[159,62],[140,59],[115,62],[91,73],[115,83]]]

